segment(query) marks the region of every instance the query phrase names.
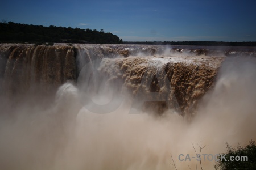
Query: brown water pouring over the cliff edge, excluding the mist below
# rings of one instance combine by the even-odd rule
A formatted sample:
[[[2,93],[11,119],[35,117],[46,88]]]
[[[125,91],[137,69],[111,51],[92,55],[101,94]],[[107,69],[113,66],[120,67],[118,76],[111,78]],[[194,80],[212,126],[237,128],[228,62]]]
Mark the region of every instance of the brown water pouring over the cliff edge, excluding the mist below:
[[[131,97],[138,97],[139,92],[136,99],[146,101],[144,109],[160,114],[171,107],[184,116],[194,113],[197,102],[213,86],[225,58],[216,53],[205,56],[204,50],[195,54],[152,45],[3,44],[0,51],[5,94],[48,92],[68,80],[76,82],[86,63],[100,59],[98,73],[108,82],[121,81],[122,89]],[[157,101],[151,99],[154,92],[158,93],[154,96]],[[163,95],[166,100],[161,98]]]

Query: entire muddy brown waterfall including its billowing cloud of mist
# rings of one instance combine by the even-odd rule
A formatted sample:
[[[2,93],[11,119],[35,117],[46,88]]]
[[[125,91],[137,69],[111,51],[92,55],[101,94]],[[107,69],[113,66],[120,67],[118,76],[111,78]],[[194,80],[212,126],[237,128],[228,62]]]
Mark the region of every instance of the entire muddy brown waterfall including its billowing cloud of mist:
[[[191,143],[218,154],[256,137],[253,53],[0,47],[3,169],[175,169],[170,154],[178,169],[195,169],[178,159],[195,156]]]

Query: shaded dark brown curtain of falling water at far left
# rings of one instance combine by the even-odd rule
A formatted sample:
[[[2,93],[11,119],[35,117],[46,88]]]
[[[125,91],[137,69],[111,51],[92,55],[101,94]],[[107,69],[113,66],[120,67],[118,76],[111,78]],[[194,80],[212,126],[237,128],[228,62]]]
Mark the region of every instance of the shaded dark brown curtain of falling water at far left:
[[[30,88],[47,91],[76,79],[72,47],[11,46],[7,56],[2,58],[7,58],[3,88],[9,94],[19,94]]]

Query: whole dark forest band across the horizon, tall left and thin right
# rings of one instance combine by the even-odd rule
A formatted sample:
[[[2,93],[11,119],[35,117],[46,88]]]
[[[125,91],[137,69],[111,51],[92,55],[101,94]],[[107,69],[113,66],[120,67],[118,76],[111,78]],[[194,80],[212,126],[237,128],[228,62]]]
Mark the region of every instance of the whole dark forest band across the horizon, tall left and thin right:
[[[93,43],[93,44],[147,44],[197,46],[256,46],[256,42],[225,41],[124,41],[103,29],[80,29],[43,25],[28,25],[3,21],[0,23],[0,43]]]

